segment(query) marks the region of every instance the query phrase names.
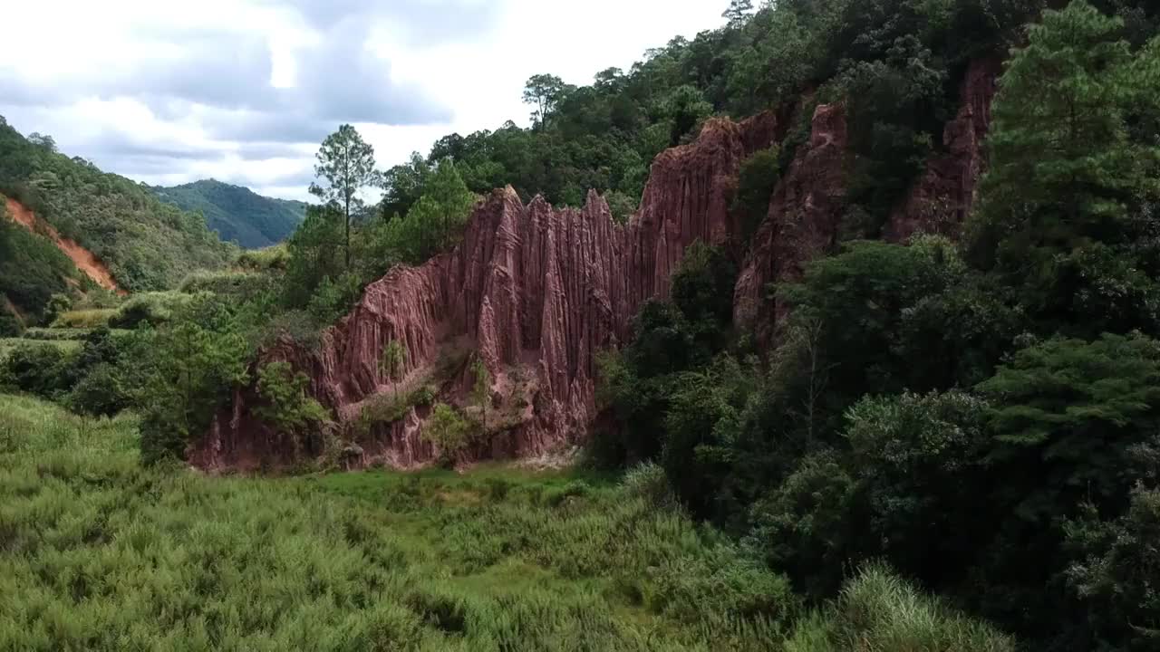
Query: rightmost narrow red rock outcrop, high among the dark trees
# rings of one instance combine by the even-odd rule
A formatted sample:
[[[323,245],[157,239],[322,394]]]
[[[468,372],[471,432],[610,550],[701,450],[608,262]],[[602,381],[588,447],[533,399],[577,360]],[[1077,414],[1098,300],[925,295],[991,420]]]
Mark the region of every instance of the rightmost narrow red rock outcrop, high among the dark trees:
[[[943,129],[945,151],[930,157],[922,178],[891,215],[887,239],[905,241],[919,232],[958,234],[986,164],[983,140],[991,126],[991,101],[1000,72],[998,59],[971,63],[959,90],[962,107]]]

